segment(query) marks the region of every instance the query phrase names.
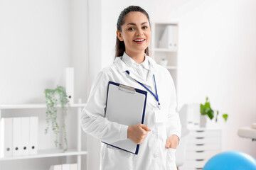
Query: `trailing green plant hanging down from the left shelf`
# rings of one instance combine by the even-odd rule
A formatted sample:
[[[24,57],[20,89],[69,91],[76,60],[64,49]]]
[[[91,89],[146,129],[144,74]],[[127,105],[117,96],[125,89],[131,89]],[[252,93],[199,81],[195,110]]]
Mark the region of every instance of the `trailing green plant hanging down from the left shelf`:
[[[69,101],[63,86],[57,86],[56,89],[45,89],[44,94],[46,96],[46,123],[47,127],[45,133],[48,133],[51,126],[53,133],[55,134],[55,147],[60,147],[59,141],[60,130],[63,132],[63,152],[68,150],[67,132],[65,129],[65,116],[68,113]],[[58,104],[60,104],[62,111],[62,122],[58,122]]]

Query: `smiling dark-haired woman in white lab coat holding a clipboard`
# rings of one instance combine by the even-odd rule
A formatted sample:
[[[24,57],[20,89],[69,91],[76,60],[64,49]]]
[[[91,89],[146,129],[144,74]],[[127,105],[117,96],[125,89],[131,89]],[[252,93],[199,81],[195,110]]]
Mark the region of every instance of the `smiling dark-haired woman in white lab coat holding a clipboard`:
[[[102,143],[100,169],[176,169],[174,152],[181,136],[181,124],[176,113],[175,87],[168,70],[147,56],[150,38],[148,13],[139,6],[125,8],[117,21],[114,63],[102,69],[92,85],[82,111],[82,129],[105,142],[132,140],[140,144],[139,154]],[[144,91],[146,86],[152,91],[147,94],[144,125],[121,125],[104,117],[109,81]],[[156,91],[159,100],[153,96]],[[156,121],[162,115],[166,119]]]

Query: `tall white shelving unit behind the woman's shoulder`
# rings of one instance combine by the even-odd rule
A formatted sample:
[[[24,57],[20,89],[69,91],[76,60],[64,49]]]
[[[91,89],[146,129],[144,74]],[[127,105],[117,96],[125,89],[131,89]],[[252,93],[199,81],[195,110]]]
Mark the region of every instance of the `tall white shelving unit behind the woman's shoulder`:
[[[164,30],[167,26],[174,26],[175,30],[173,33],[173,47],[162,48],[159,46],[159,41],[161,40]],[[151,55],[154,60],[161,64],[162,59],[168,61],[166,69],[169,70],[171,77],[174,79],[174,85],[177,92],[177,59],[178,59],[178,23],[176,22],[153,22],[151,25],[152,28],[152,39],[151,39],[151,50],[153,54]]]

